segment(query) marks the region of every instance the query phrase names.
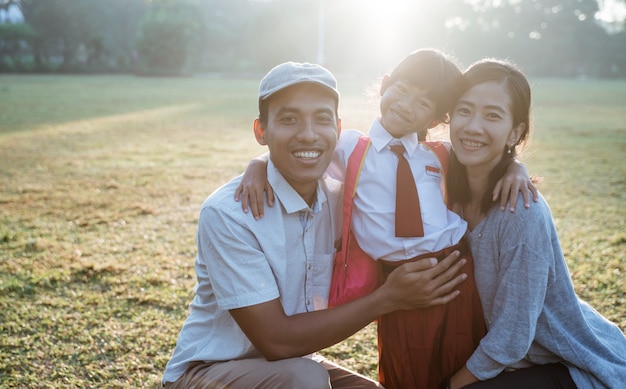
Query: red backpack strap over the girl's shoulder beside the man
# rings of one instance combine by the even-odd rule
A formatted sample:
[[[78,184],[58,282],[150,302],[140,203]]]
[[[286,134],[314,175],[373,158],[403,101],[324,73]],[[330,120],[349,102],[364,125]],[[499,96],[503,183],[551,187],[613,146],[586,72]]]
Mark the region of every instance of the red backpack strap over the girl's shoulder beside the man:
[[[366,135],[361,135],[357,141],[352,154],[348,158],[348,167],[346,169],[346,176],[344,178],[343,186],[343,212],[342,212],[342,232],[341,232],[341,248],[343,249],[344,258],[347,258],[348,248],[348,232],[350,231],[350,220],[352,218],[352,199],[356,194],[356,184],[359,181],[361,175],[361,169],[363,169],[363,163],[365,162],[365,155],[370,147],[370,138]]]

